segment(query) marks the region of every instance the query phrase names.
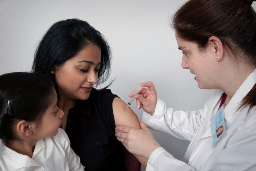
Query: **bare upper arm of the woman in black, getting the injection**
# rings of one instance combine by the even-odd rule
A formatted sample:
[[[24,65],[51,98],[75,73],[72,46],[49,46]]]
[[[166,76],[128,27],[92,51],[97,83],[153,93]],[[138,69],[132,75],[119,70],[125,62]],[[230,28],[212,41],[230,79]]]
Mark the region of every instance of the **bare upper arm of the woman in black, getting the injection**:
[[[129,126],[132,128],[140,128],[140,123],[137,115],[131,108],[125,109],[127,104],[120,98],[113,100],[113,114],[116,126]]]

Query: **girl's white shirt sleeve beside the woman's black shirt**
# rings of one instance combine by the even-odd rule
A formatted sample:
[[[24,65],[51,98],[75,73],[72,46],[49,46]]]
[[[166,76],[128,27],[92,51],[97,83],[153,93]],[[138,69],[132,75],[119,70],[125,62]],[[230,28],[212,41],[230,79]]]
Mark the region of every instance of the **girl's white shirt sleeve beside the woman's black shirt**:
[[[82,171],[84,170],[84,166],[80,163],[80,158],[78,155],[70,147],[70,141],[66,132],[59,128],[58,134],[56,136],[56,140],[65,151],[65,156],[68,161],[69,171]]]

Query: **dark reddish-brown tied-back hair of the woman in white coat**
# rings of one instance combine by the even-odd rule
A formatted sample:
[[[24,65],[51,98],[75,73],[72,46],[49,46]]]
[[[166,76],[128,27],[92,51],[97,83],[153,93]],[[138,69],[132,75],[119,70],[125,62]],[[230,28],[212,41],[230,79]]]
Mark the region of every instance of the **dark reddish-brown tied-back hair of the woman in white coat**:
[[[207,48],[211,36],[218,37],[235,63],[246,61],[256,67],[256,12],[252,0],[189,0],[172,18],[171,26],[184,40]],[[256,105],[256,84],[240,107]]]

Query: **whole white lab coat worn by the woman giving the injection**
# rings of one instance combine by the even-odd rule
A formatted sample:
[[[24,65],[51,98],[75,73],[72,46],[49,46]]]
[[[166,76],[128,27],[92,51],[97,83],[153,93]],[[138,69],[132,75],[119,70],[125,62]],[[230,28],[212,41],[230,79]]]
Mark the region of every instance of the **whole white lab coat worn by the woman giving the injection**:
[[[198,111],[166,108],[158,99],[153,116],[143,113],[142,121],[151,129],[191,141],[184,162],[175,159],[162,147],[153,151],[146,171],[230,171],[256,170],[256,107],[237,110],[241,100],[256,83],[256,69],[247,77],[225,107],[227,135],[215,148],[211,143],[210,118],[216,114],[223,91],[216,90]],[[247,117],[246,117],[247,115]],[[175,147],[174,147],[175,148]]]

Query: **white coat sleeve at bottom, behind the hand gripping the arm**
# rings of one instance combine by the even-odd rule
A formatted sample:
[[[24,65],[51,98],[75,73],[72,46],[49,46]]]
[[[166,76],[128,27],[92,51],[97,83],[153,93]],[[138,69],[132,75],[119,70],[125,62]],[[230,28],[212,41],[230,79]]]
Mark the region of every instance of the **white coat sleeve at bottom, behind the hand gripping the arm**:
[[[194,171],[187,163],[175,159],[164,148],[159,147],[153,151],[148,159],[146,171]]]

